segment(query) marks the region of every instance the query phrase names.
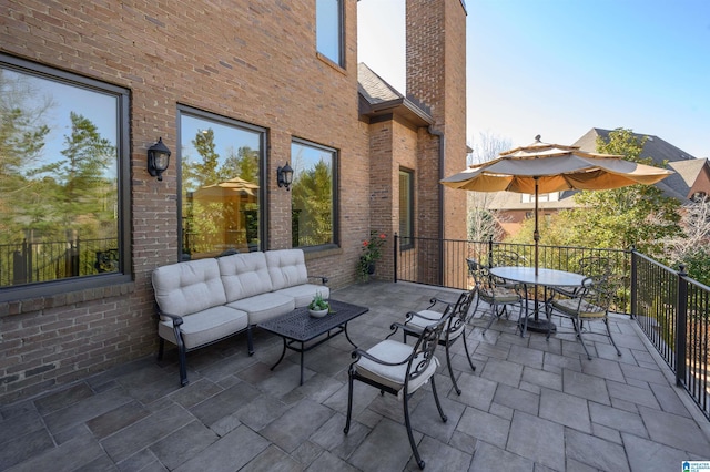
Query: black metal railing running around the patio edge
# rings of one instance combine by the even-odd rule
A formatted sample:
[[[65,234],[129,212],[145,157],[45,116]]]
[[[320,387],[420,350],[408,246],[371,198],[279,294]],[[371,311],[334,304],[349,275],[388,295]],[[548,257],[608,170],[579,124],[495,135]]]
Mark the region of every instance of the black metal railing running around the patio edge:
[[[395,281],[469,289],[473,279],[466,258],[489,264],[496,250],[513,250],[532,266],[534,245],[494,240],[400,238],[395,235]],[[571,246],[539,246],[539,266],[576,271],[588,256],[610,259],[622,289],[615,311],[637,319],[656,349],[710,419],[710,287],[636,252]]]

